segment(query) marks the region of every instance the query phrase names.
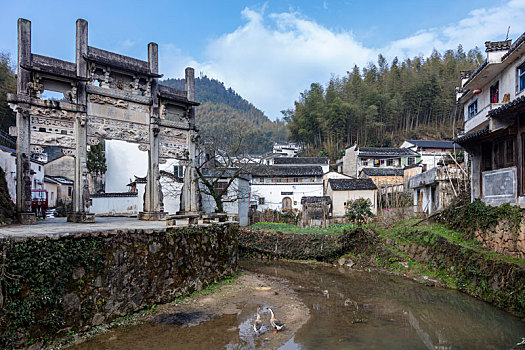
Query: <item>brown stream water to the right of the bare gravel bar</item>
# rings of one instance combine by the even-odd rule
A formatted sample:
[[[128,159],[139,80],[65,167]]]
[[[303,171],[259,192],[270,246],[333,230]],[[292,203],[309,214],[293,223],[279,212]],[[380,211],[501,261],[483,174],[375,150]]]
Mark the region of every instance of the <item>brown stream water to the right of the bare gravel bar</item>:
[[[289,280],[311,308],[296,348],[510,349],[525,336],[524,323],[484,302],[396,276],[294,263],[244,266]]]

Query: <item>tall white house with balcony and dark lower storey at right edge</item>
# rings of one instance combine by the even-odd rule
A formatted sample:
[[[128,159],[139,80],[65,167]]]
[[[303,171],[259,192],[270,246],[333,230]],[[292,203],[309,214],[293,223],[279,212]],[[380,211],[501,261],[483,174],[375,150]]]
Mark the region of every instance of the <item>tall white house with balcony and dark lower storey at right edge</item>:
[[[472,200],[524,207],[525,33],[485,47],[485,62],[461,72],[465,134],[456,142],[470,155]]]

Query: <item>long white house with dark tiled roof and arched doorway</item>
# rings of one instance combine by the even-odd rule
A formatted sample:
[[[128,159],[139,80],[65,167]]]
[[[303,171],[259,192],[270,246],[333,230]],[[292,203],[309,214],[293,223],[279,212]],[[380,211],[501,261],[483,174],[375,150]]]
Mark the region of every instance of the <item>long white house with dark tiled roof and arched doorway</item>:
[[[323,168],[319,165],[268,165],[252,169],[252,200],[257,210],[300,210],[301,199],[323,195]]]

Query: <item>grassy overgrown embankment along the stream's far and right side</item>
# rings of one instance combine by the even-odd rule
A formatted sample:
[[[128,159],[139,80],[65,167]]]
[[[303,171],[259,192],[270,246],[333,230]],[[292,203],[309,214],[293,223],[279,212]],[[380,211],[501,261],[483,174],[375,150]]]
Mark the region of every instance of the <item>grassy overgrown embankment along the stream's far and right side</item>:
[[[354,229],[323,237],[241,230],[239,250],[252,257],[337,260],[347,268],[380,267],[400,274],[423,266],[442,284],[525,318],[525,267],[520,261],[454,244],[433,232],[399,230],[388,237]],[[345,258],[337,259],[341,255]]]

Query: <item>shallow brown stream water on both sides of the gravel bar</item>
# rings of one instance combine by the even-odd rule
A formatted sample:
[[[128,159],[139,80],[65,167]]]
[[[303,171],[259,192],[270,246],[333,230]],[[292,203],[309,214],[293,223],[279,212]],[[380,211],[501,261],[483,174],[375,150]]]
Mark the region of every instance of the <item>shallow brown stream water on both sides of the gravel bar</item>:
[[[284,350],[513,349],[525,337],[525,323],[506,312],[456,291],[397,276],[276,261],[243,261],[242,268],[282,280],[310,309],[308,321],[290,334]],[[193,327],[151,322],[75,348],[269,348],[254,336],[252,322],[248,310]]]

